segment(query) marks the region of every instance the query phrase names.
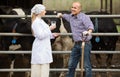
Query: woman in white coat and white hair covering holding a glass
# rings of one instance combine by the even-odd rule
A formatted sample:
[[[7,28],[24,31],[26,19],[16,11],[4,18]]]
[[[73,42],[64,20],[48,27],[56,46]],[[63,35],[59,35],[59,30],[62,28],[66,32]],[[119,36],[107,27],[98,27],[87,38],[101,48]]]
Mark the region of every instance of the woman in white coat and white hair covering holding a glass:
[[[35,37],[31,56],[31,77],[49,77],[49,64],[53,62],[50,39],[57,37],[51,33],[55,26],[50,26],[41,19],[46,13],[45,6],[36,4],[31,9],[32,34]]]

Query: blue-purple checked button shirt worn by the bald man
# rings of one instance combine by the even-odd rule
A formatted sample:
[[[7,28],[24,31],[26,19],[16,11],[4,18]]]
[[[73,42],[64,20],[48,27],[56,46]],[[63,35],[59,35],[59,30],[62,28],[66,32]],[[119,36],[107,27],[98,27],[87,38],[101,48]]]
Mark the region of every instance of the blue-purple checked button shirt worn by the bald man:
[[[94,26],[90,17],[84,13],[79,13],[77,16],[72,14],[63,14],[63,18],[66,19],[71,26],[73,39],[77,41],[89,41],[92,38],[92,35],[82,36],[83,31],[88,31],[89,29],[94,30]]]

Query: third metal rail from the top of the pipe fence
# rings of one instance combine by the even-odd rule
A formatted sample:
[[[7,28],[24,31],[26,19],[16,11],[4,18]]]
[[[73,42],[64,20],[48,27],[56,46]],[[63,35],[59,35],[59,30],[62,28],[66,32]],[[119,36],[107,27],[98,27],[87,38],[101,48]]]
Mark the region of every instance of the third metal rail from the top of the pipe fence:
[[[53,54],[69,54],[71,51],[52,51]],[[92,54],[120,54],[120,51],[91,51]],[[0,51],[0,54],[31,54],[31,51]]]

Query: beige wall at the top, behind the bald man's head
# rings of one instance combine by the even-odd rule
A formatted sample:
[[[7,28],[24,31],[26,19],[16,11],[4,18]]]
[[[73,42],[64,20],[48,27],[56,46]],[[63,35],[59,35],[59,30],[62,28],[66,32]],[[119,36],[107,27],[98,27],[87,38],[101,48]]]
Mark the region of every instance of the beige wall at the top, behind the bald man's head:
[[[72,2],[80,1],[82,4],[82,10],[84,12],[99,11],[101,0],[43,0],[43,4],[47,7],[47,10],[70,10]],[[103,0],[104,1],[104,0]],[[104,3],[105,4],[105,3]],[[108,0],[108,11],[109,8]],[[104,6],[105,7],[105,6]],[[120,14],[120,1],[113,0],[113,13]]]

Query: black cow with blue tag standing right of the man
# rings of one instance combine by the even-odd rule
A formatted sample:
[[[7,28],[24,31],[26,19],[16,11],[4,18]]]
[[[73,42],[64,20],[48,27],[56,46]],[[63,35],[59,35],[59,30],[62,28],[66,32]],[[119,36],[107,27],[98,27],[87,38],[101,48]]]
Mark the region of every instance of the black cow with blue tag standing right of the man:
[[[109,15],[106,11],[92,11],[86,13],[88,15]],[[117,27],[113,18],[91,18],[94,27],[95,33],[117,33]],[[97,21],[95,21],[97,20]],[[97,22],[97,23],[96,23]],[[92,42],[92,50],[99,51],[115,51],[116,42],[118,40],[118,36],[93,36]],[[100,54],[95,54],[97,60],[97,67],[102,68],[102,57]],[[112,62],[113,54],[107,54],[106,59],[106,67],[110,68]],[[105,60],[105,59],[104,59]],[[100,74],[97,74],[97,77],[101,77]],[[107,72],[107,77],[111,77],[110,73]]]

